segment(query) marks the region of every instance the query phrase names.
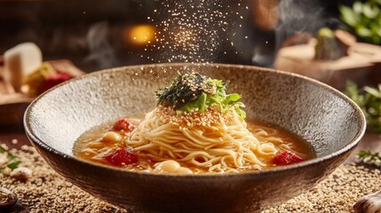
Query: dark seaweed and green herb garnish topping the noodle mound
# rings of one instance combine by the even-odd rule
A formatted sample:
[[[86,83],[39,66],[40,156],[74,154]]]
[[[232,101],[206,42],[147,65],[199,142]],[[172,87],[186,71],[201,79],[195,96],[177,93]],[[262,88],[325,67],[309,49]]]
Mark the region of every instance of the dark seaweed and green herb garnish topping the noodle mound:
[[[218,106],[221,113],[235,109],[242,120],[246,114],[241,95],[226,94],[227,83],[222,80],[211,79],[199,73],[179,73],[169,87],[156,91],[157,103],[164,106],[173,106],[177,114],[184,112],[205,112],[209,106]]]

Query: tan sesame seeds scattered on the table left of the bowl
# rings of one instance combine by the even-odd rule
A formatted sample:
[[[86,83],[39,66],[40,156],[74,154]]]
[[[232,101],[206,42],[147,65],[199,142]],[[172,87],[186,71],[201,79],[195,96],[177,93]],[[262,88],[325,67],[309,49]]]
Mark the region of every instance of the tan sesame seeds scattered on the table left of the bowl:
[[[20,168],[28,168],[33,174],[28,180],[20,181],[10,174],[0,172],[0,182],[2,187],[18,195],[20,203],[28,209],[28,212],[127,213],[126,210],[100,201],[72,185],[52,170],[32,146],[22,146],[22,149],[13,149],[11,152],[21,160]],[[10,210],[19,212],[16,209]]]

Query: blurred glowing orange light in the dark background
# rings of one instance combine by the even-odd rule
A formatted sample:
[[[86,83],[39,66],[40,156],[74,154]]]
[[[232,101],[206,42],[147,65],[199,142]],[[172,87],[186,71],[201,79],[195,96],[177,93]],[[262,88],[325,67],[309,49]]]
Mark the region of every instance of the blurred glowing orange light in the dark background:
[[[155,39],[156,28],[151,25],[137,25],[128,28],[127,35],[130,43],[142,45],[152,43]]]

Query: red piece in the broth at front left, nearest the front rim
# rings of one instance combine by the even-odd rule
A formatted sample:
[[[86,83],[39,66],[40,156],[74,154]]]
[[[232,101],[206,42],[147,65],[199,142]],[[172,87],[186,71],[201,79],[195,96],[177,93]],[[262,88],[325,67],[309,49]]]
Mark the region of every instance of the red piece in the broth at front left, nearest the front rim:
[[[122,166],[138,162],[138,155],[131,153],[126,148],[119,148],[114,153],[108,154],[105,159],[115,166]]]

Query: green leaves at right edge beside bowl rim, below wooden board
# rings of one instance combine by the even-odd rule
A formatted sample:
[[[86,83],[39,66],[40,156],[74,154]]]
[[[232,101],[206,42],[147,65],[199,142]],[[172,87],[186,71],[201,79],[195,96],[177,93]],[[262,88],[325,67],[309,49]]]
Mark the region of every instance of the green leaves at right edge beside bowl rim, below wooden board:
[[[355,83],[347,82],[344,93],[361,107],[367,120],[367,130],[381,133],[381,84],[377,88],[365,86],[360,91]]]

